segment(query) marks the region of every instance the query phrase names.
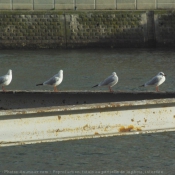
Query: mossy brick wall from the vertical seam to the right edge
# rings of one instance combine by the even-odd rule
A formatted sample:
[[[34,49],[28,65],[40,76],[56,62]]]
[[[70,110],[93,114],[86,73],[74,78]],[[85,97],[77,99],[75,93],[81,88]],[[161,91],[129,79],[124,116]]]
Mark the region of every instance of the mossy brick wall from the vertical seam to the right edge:
[[[71,15],[68,47],[173,47],[174,11]]]

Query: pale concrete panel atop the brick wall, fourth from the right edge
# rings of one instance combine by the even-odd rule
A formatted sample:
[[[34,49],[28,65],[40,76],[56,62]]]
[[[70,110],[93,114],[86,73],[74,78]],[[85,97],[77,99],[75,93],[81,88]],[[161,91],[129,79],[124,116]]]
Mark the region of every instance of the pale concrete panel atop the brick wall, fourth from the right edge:
[[[106,9],[106,10],[115,10],[116,9],[116,1],[115,0],[96,0],[96,9]]]

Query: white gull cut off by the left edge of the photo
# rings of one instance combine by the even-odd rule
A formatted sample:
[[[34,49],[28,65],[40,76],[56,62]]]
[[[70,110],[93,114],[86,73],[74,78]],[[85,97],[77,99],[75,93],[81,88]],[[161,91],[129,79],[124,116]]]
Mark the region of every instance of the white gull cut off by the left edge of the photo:
[[[3,75],[0,77],[0,85],[2,86],[3,92],[6,90],[4,89],[4,86],[8,86],[12,81],[12,70],[9,69],[6,75]]]

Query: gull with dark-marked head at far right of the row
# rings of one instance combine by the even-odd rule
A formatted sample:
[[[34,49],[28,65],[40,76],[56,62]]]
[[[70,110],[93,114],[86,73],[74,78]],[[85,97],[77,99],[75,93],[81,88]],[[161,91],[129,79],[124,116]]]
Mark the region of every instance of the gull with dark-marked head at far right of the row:
[[[146,82],[140,87],[146,86],[156,86],[156,91],[159,91],[159,86],[165,81],[165,74],[163,72],[159,72],[155,77],[153,77],[150,81]]]

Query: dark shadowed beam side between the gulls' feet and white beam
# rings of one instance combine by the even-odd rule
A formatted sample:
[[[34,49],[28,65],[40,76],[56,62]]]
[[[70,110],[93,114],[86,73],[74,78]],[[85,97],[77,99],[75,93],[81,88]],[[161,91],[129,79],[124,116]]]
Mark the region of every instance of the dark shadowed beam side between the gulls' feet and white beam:
[[[0,109],[23,109],[66,105],[124,102],[149,99],[175,98],[174,92],[47,92],[9,91],[0,92]]]

